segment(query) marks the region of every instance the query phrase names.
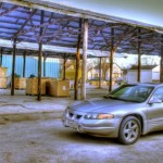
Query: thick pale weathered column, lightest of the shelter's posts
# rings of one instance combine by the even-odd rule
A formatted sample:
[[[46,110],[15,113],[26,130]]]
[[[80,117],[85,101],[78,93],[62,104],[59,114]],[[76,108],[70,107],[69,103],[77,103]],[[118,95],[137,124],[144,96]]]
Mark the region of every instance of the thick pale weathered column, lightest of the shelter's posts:
[[[88,20],[84,20],[82,100],[86,99]]]

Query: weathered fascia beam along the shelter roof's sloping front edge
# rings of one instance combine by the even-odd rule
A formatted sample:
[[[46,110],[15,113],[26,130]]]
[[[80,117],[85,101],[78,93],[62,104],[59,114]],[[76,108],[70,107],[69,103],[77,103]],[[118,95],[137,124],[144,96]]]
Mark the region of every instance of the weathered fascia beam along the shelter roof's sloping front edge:
[[[83,17],[83,18],[91,18],[91,20],[105,21],[105,22],[112,22],[112,23],[120,23],[120,24],[129,25],[129,26],[143,27],[143,28],[148,28],[151,30],[156,30],[156,29],[162,30],[162,27],[159,27],[155,25],[149,25],[146,23],[137,22],[137,21],[131,21],[131,20],[127,20],[127,18],[95,13],[91,11],[84,11],[84,10],[64,7],[64,5],[57,5],[50,1],[49,1],[49,5],[45,5],[43,1],[38,3],[38,2],[32,2],[32,1],[27,2],[26,0],[22,0],[22,1],[20,1],[20,0],[5,0],[5,2],[22,5],[22,7],[27,7],[27,8],[33,7],[35,9],[40,9],[40,10],[45,10],[45,11],[49,11],[49,12],[55,12],[55,13],[75,16],[75,17]]]

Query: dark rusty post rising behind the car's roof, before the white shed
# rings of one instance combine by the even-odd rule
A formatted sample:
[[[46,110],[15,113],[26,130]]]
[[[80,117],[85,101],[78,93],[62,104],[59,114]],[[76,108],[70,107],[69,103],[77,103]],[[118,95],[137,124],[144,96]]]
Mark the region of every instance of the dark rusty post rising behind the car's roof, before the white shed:
[[[141,30],[138,29],[138,35],[140,35]],[[140,48],[141,48],[141,42],[140,42],[140,36],[138,36],[138,77],[137,77],[137,82],[140,83],[141,80],[141,52],[140,52]]]

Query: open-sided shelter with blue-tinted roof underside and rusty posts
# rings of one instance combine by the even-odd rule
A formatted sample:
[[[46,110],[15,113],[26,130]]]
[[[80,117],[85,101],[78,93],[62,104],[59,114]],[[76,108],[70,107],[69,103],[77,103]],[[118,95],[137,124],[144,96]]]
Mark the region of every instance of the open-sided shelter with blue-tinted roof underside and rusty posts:
[[[92,12],[72,11],[58,5],[43,5],[36,1],[8,0],[0,3],[0,39],[2,39],[0,41],[1,58],[7,51],[9,51],[9,54],[13,54],[12,96],[14,95],[16,54],[20,52],[20,54],[24,54],[25,59],[26,53],[30,54],[32,50],[37,51],[35,54],[39,58],[39,101],[41,100],[42,52],[54,58],[65,59],[65,55],[67,55],[76,59],[75,99],[77,99],[78,93],[77,72],[80,59],[83,59],[82,99],[86,99],[87,57],[110,57],[109,91],[111,91],[115,52],[139,55],[138,82],[141,77],[141,54],[163,55],[161,27]],[[9,50],[11,45],[12,49]],[[161,72],[162,79],[163,72]]]

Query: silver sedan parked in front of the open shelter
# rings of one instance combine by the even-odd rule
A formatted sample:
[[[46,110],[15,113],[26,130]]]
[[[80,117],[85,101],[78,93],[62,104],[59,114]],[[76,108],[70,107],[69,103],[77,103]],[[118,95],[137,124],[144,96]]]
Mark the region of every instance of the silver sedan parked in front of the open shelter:
[[[140,135],[163,129],[163,85],[123,85],[103,98],[74,102],[63,114],[63,125],[135,143]]]

